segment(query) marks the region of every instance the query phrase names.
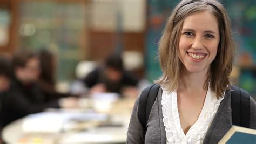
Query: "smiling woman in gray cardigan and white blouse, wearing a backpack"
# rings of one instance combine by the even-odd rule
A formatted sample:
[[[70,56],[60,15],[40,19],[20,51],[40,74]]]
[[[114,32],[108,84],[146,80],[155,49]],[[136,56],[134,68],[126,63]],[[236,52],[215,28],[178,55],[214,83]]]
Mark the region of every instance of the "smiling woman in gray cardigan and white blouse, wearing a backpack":
[[[223,5],[212,0],[181,1],[159,42],[163,76],[156,81],[160,85],[156,99],[154,85],[136,100],[127,143],[218,143],[232,125],[256,129],[255,101],[230,83],[233,53]],[[231,100],[238,90],[241,101],[250,107],[245,112],[248,117],[233,117],[237,105]],[[149,117],[145,120],[141,115]],[[248,123],[237,124],[237,119]]]

